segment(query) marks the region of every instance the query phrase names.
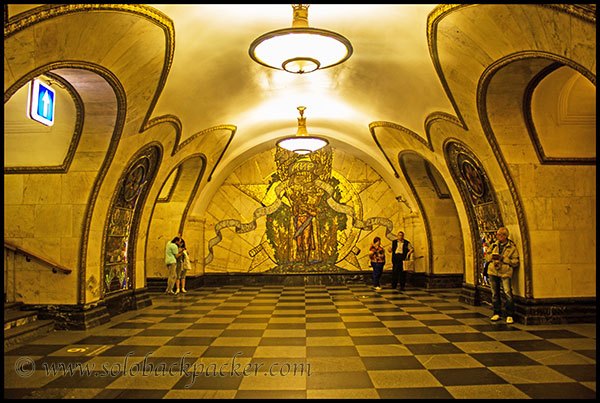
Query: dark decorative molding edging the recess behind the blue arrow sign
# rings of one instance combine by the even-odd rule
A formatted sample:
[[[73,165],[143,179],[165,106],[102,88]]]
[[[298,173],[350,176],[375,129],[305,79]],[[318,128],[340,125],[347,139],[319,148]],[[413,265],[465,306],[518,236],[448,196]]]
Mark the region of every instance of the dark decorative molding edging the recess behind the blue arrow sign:
[[[83,104],[81,96],[79,96],[79,93],[75,90],[75,88],[73,88],[71,83],[69,83],[67,80],[65,80],[58,74],[54,74],[50,71],[45,72],[44,75],[52,79],[53,81],[58,82],[62,87],[64,87],[67,93],[71,96],[73,104],[75,105],[75,127],[73,129],[73,135],[71,136],[71,142],[69,143],[67,155],[65,156],[65,159],[60,165],[4,167],[4,174],[64,174],[69,171],[71,162],[73,162],[73,158],[75,157],[75,151],[77,150],[77,145],[79,144],[79,140],[81,139],[81,132],[83,130],[85,106]],[[19,88],[11,92],[8,98],[6,97],[7,94],[5,94],[4,103],[8,102],[10,97],[12,97],[15,94],[15,92],[19,90]]]

